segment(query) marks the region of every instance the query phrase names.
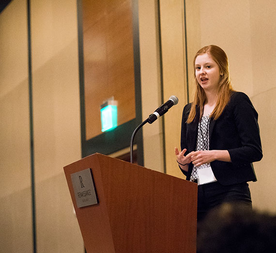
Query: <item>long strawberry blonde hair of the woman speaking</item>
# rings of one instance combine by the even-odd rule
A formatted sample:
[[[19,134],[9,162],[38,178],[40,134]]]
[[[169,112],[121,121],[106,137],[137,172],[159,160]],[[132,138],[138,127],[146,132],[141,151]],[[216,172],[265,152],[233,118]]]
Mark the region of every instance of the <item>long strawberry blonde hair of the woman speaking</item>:
[[[196,53],[194,57],[194,82],[195,82],[195,96],[194,101],[192,102],[191,111],[189,113],[187,123],[191,123],[195,116],[196,116],[196,105],[200,108],[200,117],[203,113],[203,106],[206,100],[206,95],[202,87],[199,85],[199,82],[196,78],[196,69],[195,69],[195,62],[196,58],[201,55],[208,53],[212,59],[217,63],[220,72],[220,81],[219,87],[217,91],[217,102],[213,112],[211,113],[210,117],[214,120],[218,119],[221,115],[222,111],[226,107],[229,102],[231,91],[233,91],[231,81],[230,81],[230,74],[229,74],[229,63],[226,53],[220,48],[215,45],[210,45],[206,47],[202,47]]]

